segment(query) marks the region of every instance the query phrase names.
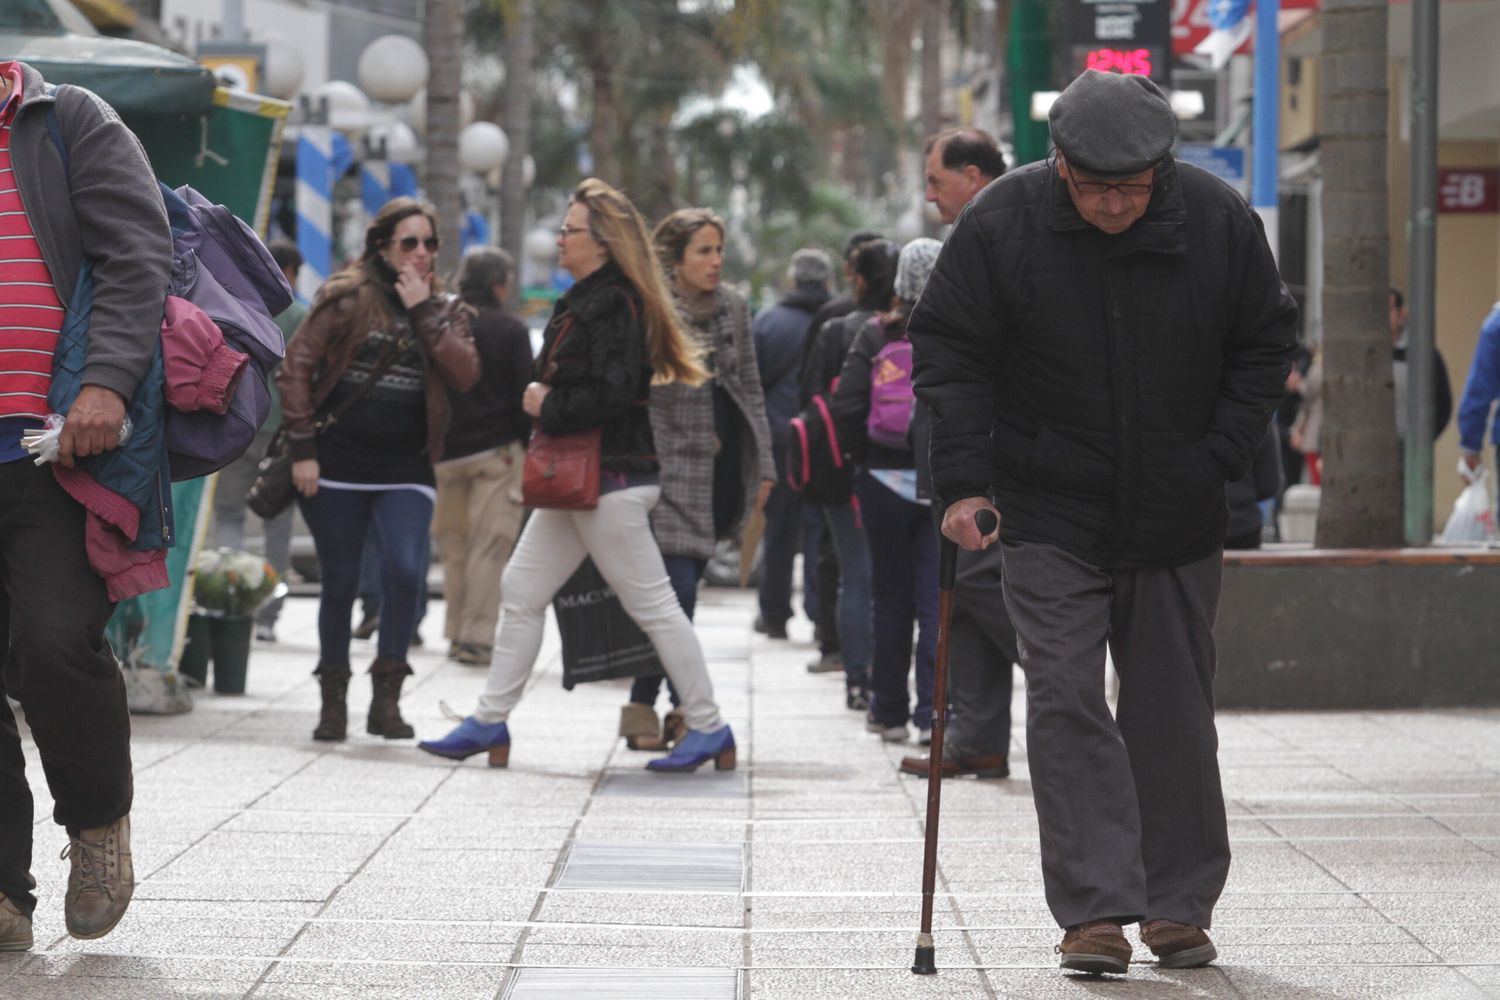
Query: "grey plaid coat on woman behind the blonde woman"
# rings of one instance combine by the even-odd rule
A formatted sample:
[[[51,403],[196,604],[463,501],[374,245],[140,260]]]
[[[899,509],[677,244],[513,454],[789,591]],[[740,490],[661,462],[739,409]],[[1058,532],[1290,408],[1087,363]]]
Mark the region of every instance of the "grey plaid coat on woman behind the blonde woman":
[[[694,319],[678,303],[682,328],[714,358],[716,378],[698,387],[651,387],[651,433],[662,462],[662,502],[651,511],[651,528],[666,555],[710,559],[714,555],[714,385],[735,403],[740,432],[744,502],[732,534],[738,537],[754,507],[760,480],[776,478],[771,429],[765,420],[765,393],[750,336],[750,309],[736,292],[720,286],[711,315]]]

